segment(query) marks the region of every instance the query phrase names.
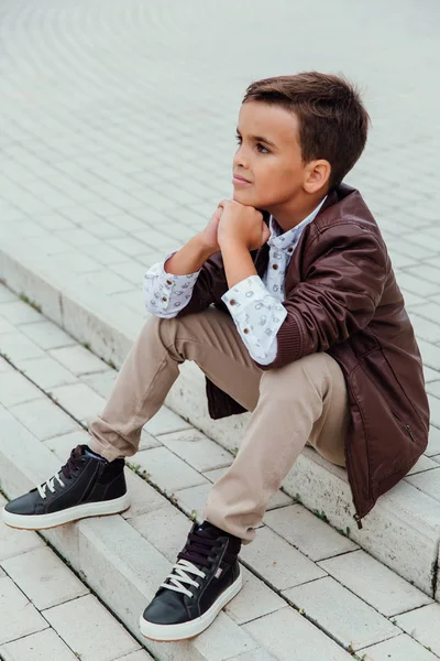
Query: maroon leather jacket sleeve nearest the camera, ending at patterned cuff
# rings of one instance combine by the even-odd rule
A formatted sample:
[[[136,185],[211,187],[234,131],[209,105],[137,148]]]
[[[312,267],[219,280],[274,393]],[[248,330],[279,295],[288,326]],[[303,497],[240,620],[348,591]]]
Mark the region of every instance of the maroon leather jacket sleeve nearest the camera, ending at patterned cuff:
[[[261,369],[284,367],[365,328],[381,301],[388,256],[380,236],[355,224],[333,226],[308,247],[304,281],[288,293],[277,355]]]

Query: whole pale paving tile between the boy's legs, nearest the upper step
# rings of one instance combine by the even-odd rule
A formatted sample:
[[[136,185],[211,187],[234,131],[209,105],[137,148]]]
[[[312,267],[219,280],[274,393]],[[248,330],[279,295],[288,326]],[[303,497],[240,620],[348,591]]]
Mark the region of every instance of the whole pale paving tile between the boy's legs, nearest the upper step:
[[[199,473],[230,466],[233,455],[198,430],[182,430],[161,434],[163,443]]]

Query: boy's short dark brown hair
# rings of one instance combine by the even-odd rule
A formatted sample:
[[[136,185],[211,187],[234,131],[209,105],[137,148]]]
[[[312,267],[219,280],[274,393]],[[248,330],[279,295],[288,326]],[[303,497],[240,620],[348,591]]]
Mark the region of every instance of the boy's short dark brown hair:
[[[246,101],[283,106],[299,120],[302,161],[331,165],[329,188],[338,186],[362,154],[370,116],[359,90],[345,78],[319,72],[275,76],[252,83]]]

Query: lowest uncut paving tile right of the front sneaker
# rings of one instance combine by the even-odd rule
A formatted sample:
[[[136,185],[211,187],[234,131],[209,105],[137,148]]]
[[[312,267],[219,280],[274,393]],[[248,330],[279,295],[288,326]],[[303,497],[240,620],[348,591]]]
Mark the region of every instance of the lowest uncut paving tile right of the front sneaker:
[[[345,648],[359,650],[399,633],[389,620],[330,576],[283,594]]]

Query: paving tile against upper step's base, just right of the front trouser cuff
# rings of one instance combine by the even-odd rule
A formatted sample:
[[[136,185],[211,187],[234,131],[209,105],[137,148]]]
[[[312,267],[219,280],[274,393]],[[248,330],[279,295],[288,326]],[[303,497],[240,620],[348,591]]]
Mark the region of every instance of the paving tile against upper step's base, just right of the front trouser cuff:
[[[301,505],[266,512],[263,521],[314,562],[359,549]]]

